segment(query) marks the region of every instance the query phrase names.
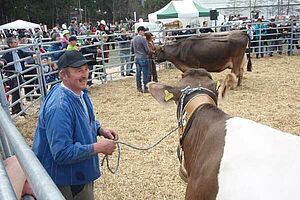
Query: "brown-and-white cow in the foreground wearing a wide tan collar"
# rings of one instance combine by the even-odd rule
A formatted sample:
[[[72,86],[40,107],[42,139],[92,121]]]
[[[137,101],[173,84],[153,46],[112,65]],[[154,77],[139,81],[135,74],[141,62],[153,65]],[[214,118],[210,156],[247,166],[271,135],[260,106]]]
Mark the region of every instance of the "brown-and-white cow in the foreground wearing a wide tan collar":
[[[186,200],[299,199],[299,136],[220,110],[205,69],[187,70],[176,87],[150,83],[149,89],[157,101],[178,105]]]

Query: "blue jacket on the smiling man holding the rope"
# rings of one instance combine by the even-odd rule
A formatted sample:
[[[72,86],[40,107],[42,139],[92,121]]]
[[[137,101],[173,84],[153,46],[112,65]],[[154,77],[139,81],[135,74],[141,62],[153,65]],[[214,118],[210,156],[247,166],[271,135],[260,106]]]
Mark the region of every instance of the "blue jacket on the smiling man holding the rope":
[[[80,97],[61,84],[51,89],[40,109],[32,148],[58,186],[86,184],[100,176],[92,147],[100,123],[86,91],[83,98],[89,118]]]

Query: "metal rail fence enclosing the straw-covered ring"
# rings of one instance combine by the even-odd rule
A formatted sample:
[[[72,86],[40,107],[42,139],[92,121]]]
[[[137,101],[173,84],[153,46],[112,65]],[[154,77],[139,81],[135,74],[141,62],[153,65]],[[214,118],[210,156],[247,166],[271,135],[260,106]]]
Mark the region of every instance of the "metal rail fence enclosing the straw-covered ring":
[[[278,54],[299,54],[300,22],[293,24],[274,22],[275,26],[265,26],[255,28],[255,24],[248,26],[245,24],[240,29],[246,31],[251,38],[251,53],[253,55],[272,56]],[[191,37],[193,35],[203,35],[205,29],[213,31],[228,31],[237,27],[224,25],[212,27],[193,27],[185,29],[168,29],[152,32],[156,36],[157,44],[167,44],[178,39]],[[125,37],[127,36],[127,38]],[[122,39],[122,36],[125,38]],[[93,43],[87,43],[91,37]],[[100,34],[93,36],[78,36],[81,43],[80,49],[88,59],[93,60],[90,65],[89,81],[104,83],[113,79],[123,78],[126,73],[130,73],[134,67],[134,54],[131,51],[131,38],[134,34]],[[64,49],[53,50],[57,43],[42,42],[34,40],[32,44],[23,45],[14,49],[0,51],[0,56],[13,51],[31,51],[35,54],[33,62],[29,62],[31,56],[26,56],[7,63],[1,69],[0,74],[0,151],[3,158],[16,154],[18,160],[26,172],[34,191],[41,199],[62,199],[56,186],[44,171],[32,151],[29,149],[24,139],[10,121],[24,115],[24,113],[34,112],[45,98],[52,85],[59,82],[57,70],[57,55],[62,54]],[[45,49],[46,52],[42,52]],[[89,49],[89,50],[87,50]],[[100,49],[101,52],[97,52]],[[92,50],[92,51],[90,51]],[[32,59],[31,59],[32,61]],[[26,62],[26,67],[22,71],[7,70],[9,66]],[[123,75],[123,76],[122,76]],[[15,110],[20,107],[19,110]],[[15,112],[13,112],[15,111]],[[12,115],[13,114],[13,115]],[[30,161],[30,162],[29,162]],[[41,178],[43,177],[43,178]],[[1,191],[6,191],[5,195],[12,196],[11,186],[6,179],[7,175],[0,162]],[[3,193],[4,194],[4,193]],[[57,198],[53,198],[57,195]],[[12,198],[13,199],[13,198]]]

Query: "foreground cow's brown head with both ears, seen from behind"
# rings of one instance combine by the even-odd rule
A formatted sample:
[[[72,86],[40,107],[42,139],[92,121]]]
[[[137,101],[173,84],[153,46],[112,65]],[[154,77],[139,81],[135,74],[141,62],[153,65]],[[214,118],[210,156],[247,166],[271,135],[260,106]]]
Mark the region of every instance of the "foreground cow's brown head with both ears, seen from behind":
[[[231,88],[231,84],[236,83],[236,78],[232,74],[228,74],[222,84],[215,82],[212,76],[205,69],[189,69],[182,74],[182,79],[176,86],[169,86],[160,83],[150,83],[149,89],[151,95],[159,103],[167,103],[170,100],[177,104],[181,96],[182,89],[189,88],[205,88],[208,89],[210,96],[217,101],[225,97],[226,92]]]

